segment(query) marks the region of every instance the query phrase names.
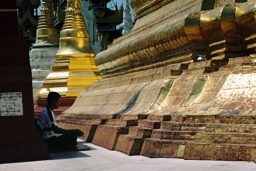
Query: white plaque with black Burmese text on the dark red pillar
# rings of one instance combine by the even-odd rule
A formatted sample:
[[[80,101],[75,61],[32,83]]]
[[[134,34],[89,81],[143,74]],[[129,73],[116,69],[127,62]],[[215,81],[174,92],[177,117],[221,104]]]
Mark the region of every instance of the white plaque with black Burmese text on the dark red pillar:
[[[0,93],[0,116],[22,116],[22,93]]]

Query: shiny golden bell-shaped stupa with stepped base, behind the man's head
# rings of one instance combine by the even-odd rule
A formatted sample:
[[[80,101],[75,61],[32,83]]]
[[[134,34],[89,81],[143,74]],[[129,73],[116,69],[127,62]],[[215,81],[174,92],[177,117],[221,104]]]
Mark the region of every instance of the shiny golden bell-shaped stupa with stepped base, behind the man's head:
[[[99,81],[101,78],[94,56],[80,0],[68,0],[56,61],[37,97],[47,97],[48,88],[62,97],[77,96],[85,87]]]

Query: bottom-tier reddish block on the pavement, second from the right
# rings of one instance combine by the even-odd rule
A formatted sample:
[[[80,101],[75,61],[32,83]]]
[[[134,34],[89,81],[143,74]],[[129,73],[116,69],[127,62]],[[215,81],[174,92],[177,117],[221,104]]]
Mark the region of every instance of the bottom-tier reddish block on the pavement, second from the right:
[[[146,157],[182,158],[188,140],[161,140],[145,138],[141,154]]]

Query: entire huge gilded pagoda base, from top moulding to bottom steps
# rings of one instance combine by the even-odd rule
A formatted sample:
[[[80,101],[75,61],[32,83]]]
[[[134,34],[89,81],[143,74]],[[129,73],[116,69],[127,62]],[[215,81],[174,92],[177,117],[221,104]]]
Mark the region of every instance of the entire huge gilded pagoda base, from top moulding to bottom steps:
[[[130,33],[60,127],[128,155],[255,160],[256,0],[131,0]],[[205,60],[197,61],[198,55]]]

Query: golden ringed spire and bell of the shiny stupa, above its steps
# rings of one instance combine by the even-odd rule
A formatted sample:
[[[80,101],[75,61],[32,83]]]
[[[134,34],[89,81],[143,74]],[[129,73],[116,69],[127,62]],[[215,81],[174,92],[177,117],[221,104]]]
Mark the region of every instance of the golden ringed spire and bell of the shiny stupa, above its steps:
[[[66,17],[60,36],[60,48],[56,57],[94,56],[89,32],[82,15],[80,0],[67,0]]]

